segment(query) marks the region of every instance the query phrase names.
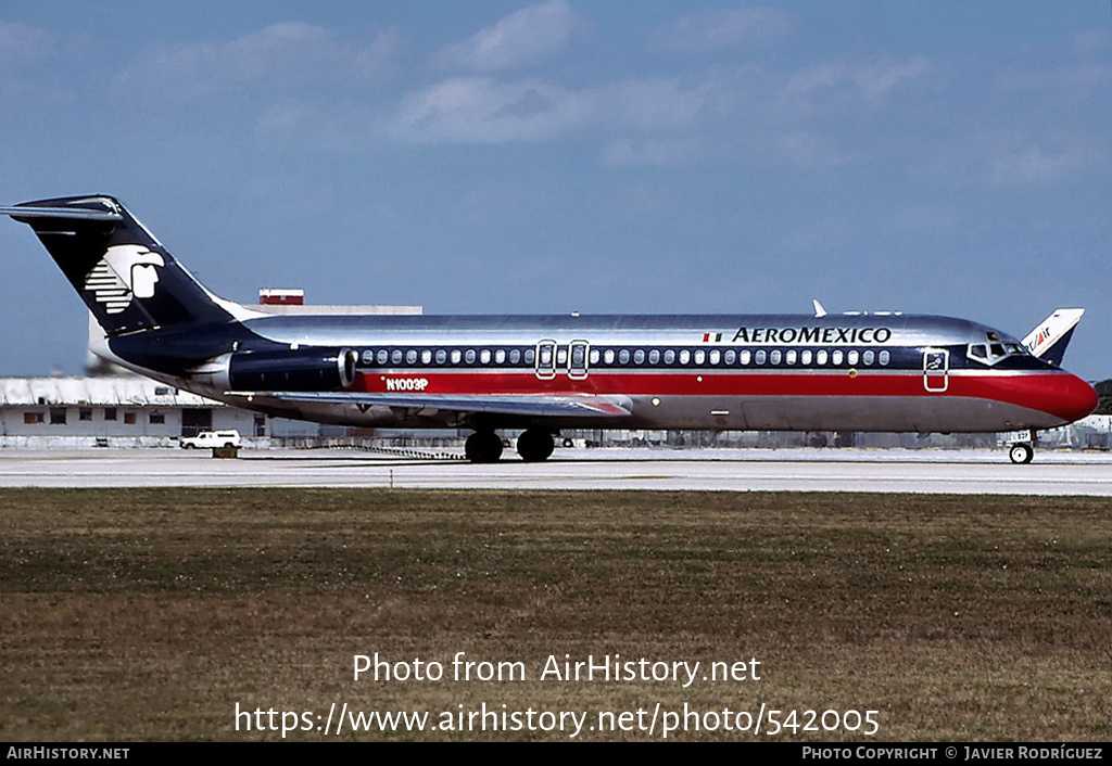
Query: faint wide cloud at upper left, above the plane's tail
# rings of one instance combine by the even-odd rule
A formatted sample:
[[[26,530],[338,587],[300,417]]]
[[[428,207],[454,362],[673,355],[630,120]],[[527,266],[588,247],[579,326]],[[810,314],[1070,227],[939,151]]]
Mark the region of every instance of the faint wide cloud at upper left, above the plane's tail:
[[[151,47],[117,78],[117,86],[173,96],[340,86],[381,77],[397,47],[393,31],[348,43],[328,29],[290,21],[229,42]]]

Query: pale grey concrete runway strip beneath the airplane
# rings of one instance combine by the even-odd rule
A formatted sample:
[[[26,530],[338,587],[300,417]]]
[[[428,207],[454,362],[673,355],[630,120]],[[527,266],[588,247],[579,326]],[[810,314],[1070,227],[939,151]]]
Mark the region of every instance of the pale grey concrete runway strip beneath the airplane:
[[[175,449],[0,450],[0,487],[394,487],[655,489],[1112,496],[1112,455],[993,450],[560,449],[543,464],[350,449],[251,450],[237,459]]]

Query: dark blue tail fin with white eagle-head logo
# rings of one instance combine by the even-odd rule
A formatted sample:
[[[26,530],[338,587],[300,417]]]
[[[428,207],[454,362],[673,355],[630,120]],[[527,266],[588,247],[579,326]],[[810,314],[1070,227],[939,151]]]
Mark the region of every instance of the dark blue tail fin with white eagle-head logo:
[[[109,336],[228,321],[222,301],[192,278],[111,197],[64,197],[0,207],[29,225]]]

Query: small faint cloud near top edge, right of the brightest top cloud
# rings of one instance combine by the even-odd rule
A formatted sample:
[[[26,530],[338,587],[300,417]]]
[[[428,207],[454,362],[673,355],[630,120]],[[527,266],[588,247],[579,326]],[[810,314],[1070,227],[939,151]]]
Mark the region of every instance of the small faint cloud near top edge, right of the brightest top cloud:
[[[705,52],[764,43],[792,29],[787,13],[775,8],[709,10],[681,17],[659,28],[653,46],[659,50]]]

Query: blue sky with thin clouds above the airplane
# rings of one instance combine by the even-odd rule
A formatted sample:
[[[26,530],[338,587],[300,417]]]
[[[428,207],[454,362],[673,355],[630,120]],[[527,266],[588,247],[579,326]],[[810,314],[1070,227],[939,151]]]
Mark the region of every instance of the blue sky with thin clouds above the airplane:
[[[214,292],[426,314],[1086,309],[1109,0],[0,0],[0,205],[119,198]],[[0,376],[87,314],[0,219]]]

